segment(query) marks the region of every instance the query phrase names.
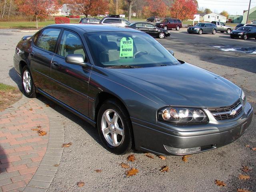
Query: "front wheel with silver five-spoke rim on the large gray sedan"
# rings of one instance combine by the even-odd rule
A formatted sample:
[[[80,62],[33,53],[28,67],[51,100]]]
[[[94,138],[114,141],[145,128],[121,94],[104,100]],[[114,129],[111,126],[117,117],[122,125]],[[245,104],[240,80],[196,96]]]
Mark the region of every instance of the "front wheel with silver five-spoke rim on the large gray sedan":
[[[97,125],[100,139],[108,151],[118,155],[131,152],[132,123],[121,102],[115,99],[106,100],[99,109]]]

